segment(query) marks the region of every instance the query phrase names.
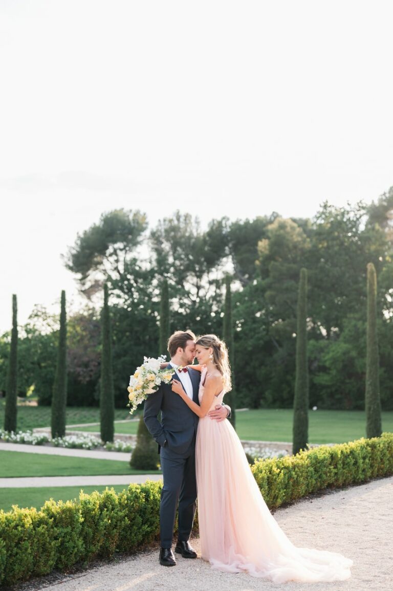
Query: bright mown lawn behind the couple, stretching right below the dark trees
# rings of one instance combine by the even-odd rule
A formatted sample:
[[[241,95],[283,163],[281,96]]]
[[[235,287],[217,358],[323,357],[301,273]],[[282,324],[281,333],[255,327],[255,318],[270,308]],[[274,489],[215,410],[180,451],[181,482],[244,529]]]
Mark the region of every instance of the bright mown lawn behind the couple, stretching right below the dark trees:
[[[236,431],[240,439],[256,441],[291,441],[291,409],[259,409],[236,414]],[[363,411],[310,410],[310,443],[343,443],[365,437],[366,417]],[[393,431],[393,412],[382,413],[382,428]],[[115,433],[135,434],[138,423],[116,423]],[[94,432],[97,426],[79,427]]]

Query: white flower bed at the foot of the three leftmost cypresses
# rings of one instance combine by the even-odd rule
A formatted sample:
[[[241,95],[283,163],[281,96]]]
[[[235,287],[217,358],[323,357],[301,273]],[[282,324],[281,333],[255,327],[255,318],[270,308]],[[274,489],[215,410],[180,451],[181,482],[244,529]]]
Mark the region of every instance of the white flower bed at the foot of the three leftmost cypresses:
[[[51,439],[45,433],[33,433],[33,431],[4,431],[0,429],[0,440],[9,443],[27,443],[30,445],[43,445],[50,443],[55,447],[70,447],[73,449],[96,449],[103,447],[108,452],[131,452],[133,446],[126,441],[115,441],[114,443],[103,444],[98,437],[93,435],[66,435],[65,437],[55,437]]]

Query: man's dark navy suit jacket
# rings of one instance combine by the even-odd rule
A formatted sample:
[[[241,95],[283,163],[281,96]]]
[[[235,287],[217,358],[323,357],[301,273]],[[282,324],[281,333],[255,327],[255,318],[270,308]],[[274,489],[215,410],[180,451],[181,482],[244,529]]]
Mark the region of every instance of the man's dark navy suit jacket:
[[[171,365],[168,365],[169,368]],[[189,368],[189,374],[193,385],[193,401],[199,404],[200,372]],[[180,381],[176,374],[172,379],[174,377]],[[157,392],[148,395],[143,418],[148,431],[158,443],[158,451],[167,441],[165,449],[168,448],[175,453],[185,453],[196,435],[199,417],[176,392],[173,392],[171,381],[169,384],[161,382]],[[160,411],[161,423],[157,418]]]

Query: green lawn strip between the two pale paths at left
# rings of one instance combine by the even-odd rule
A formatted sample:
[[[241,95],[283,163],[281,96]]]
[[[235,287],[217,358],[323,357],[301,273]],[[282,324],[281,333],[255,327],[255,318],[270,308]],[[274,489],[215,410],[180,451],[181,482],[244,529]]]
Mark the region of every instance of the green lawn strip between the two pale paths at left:
[[[158,455],[157,455],[158,458]],[[132,470],[122,460],[95,460],[88,457],[48,456],[43,453],[0,452],[0,478],[28,476],[102,476],[148,474]]]

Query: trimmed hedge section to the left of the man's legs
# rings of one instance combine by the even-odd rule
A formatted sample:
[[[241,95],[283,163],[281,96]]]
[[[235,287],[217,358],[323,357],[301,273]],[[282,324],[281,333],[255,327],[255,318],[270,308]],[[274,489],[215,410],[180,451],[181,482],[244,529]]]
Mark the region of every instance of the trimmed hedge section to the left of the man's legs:
[[[116,550],[132,553],[157,537],[161,485],[147,482],[0,512],[0,585],[65,570]]]

